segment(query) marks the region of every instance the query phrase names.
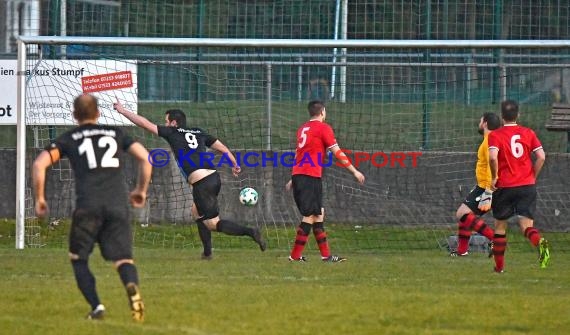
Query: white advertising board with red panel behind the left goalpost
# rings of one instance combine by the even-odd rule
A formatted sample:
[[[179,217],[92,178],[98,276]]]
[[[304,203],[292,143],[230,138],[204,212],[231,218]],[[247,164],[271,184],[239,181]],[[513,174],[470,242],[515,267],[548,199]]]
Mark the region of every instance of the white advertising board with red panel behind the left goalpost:
[[[17,61],[0,60],[0,124],[16,124]],[[42,60],[26,71],[26,124],[74,125],[73,100],[89,93],[99,100],[100,124],[132,125],[113,110],[119,99],[137,112],[137,65],[115,60]]]

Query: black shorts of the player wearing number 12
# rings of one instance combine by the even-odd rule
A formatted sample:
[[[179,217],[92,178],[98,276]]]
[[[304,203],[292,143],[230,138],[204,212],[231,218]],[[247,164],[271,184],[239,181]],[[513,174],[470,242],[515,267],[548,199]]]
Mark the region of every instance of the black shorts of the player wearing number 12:
[[[87,260],[95,243],[99,243],[105,260],[133,258],[133,234],[126,201],[124,206],[90,206],[73,212],[69,252]]]

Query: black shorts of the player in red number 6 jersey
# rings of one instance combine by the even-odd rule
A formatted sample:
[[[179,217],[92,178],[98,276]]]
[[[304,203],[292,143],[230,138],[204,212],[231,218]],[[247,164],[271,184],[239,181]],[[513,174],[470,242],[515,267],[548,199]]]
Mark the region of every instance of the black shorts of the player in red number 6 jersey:
[[[507,220],[514,215],[534,219],[536,211],[536,186],[525,185],[500,188],[493,192],[493,217]]]

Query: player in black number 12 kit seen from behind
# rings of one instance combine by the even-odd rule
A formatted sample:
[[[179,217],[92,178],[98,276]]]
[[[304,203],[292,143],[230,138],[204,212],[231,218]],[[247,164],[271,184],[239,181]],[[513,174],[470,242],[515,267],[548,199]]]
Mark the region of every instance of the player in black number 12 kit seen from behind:
[[[97,99],[81,95],[73,103],[73,117],[78,127],[59,136],[36,158],[33,164],[35,210],[46,216],[46,170],[67,157],[75,176],[76,202],[69,233],[69,257],[79,290],[91,305],[88,319],[102,319],[105,307],[89,270],[89,256],[95,243],[101,255],[112,261],[127,291],[132,317],[143,321],[144,305],[139,292],[137,269],[133,261],[132,231],[128,200],[141,208],[152,166],[147,150],[134,142],[120,128],[98,125],[100,116]],[[123,173],[122,154],[128,152],[138,162],[138,181],[130,193]]]

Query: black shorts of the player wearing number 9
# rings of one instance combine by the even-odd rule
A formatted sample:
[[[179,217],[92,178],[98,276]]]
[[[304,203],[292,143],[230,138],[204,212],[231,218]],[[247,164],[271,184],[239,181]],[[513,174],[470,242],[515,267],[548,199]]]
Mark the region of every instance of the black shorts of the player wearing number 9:
[[[214,172],[192,184],[192,196],[203,220],[215,218],[220,215],[218,194],[222,188],[222,180],[218,172]]]

